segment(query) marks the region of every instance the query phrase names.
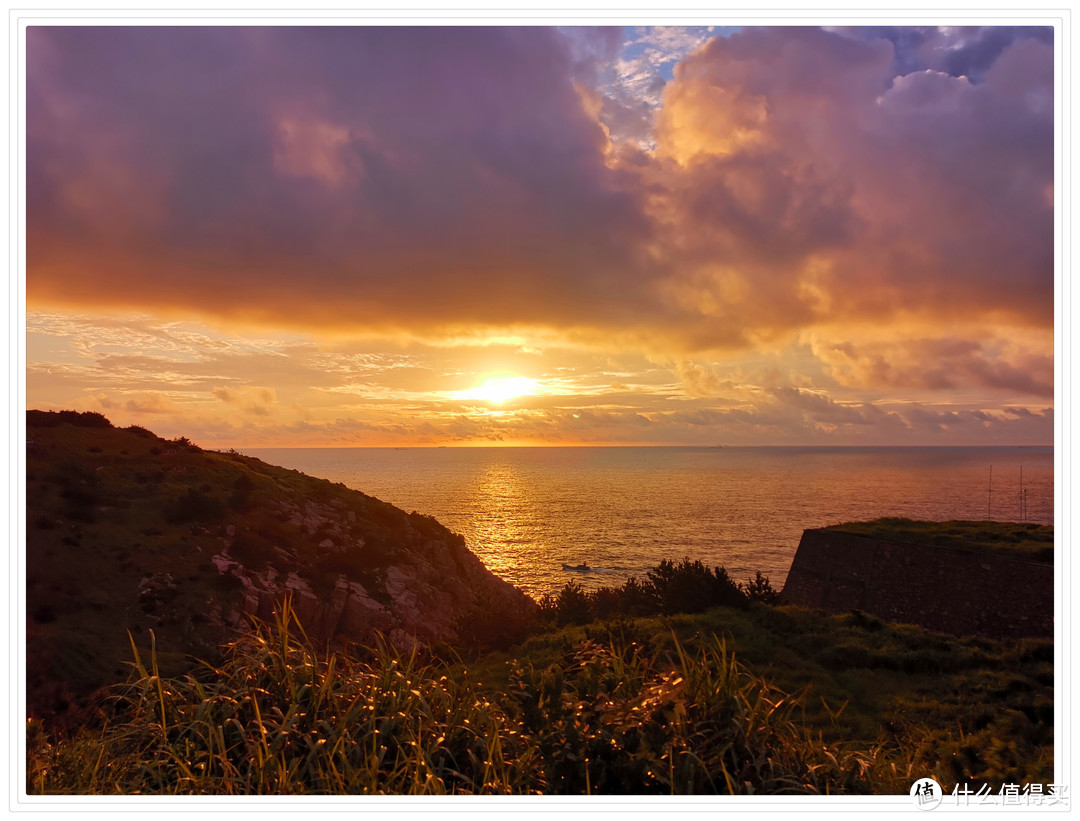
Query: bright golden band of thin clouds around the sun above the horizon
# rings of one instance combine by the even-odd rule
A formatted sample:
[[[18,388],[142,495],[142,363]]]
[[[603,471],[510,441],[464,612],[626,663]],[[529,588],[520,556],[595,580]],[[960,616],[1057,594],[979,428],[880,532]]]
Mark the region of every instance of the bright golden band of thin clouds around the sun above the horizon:
[[[539,354],[510,346],[414,344],[376,352],[359,344],[238,338],[204,348],[198,340],[213,338],[210,332],[149,321],[133,322],[126,334],[111,333],[121,327],[112,320],[97,326],[31,317],[30,325],[31,338],[46,338],[53,356],[39,353],[28,371],[31,406],[99,410],[119,426],[149,425],[152,415],[156,432],[211,447],[1027,444],[1053,436],[1052,412],[1037,396],[1016,401],[1025,371],[1045,378],[1045,363],[1025,359],[1038,346],[994,338],[883,344],[837,334],[818,358],[808,345],[738,363],[660,365],[632,352]],[[158,353],[139,353],[151,340]],[[919,356],[935,358],[936,373],[927,376]],[[814,372],[802,366],[807,361],[826,364]],[[508,372],[530,374],[543,392],[497,406],[448,396]],[[1002,374],[1010,381],[994,388]],[[939,379],[956,385],[943,388]]]

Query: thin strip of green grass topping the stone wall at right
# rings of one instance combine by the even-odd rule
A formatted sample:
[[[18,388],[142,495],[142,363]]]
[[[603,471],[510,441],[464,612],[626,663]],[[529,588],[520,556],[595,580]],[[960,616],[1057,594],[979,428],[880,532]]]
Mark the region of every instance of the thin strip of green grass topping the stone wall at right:
[[[1054,528],[1015,522],[916,522],[877,519],[824,528],[875,539],[997,553],[1024,562],[1054,562]]]

